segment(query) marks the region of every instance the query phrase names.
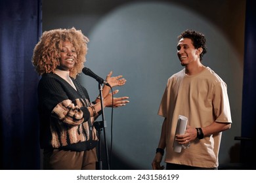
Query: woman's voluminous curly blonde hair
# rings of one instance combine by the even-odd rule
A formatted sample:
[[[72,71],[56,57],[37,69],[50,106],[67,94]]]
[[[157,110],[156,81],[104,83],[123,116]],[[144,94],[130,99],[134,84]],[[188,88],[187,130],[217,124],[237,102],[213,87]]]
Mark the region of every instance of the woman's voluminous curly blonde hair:
[[[35,71],[39,75],[54,73],[56,67],[60,65],[60,49],[64,41],[72,42],[77,54],[75,65],[70,70],[70,76],[75,78],[77,74],[81,73],[83,63],[86,61],[89,39],[83,35],[81,30],[72,27],[71,29],[53,29],[43,32],[40,41],[35,45],[32,58]]]

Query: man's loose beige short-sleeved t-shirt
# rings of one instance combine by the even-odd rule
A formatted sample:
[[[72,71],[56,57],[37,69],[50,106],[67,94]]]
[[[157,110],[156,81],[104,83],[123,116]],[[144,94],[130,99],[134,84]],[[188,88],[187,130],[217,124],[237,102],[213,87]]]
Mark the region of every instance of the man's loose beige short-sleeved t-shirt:
[[[167,118],[165,162],[194,167],[218,167],[221,134],[196,139],[190,148],[173,151],[179,115],[188,118],[188,125],[205,127],[213,122],[232,123],[227,88],[224,81],[209,67],[198,75],[186,75],[184,69],[171,76],[158,111]]]

